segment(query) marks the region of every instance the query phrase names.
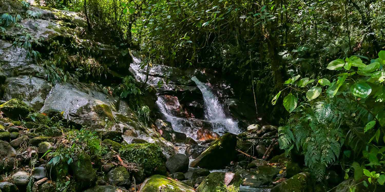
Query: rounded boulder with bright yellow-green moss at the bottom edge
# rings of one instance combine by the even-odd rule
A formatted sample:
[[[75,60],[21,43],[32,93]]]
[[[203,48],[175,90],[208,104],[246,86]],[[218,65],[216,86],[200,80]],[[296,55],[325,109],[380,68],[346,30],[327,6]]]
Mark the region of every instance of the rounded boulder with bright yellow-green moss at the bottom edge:
[[[152,175],[142,183],[139,192],[194,192],[194,189],[163,175]]]

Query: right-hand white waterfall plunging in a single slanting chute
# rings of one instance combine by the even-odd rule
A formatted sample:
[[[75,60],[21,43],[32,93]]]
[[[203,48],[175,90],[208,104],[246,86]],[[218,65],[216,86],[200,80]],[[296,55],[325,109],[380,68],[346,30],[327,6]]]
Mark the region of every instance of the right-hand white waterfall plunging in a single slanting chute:
[[[191,79],[196,83],[202,92],[205,107],[205,118],[213,123],[213,131],[228,131],[234,134],[241,133],[241,130],[238,128],[238,122],[226,117],[223,106],[219,103],[218,98],[213,94],[208,86],[199,81],[195,76]]]

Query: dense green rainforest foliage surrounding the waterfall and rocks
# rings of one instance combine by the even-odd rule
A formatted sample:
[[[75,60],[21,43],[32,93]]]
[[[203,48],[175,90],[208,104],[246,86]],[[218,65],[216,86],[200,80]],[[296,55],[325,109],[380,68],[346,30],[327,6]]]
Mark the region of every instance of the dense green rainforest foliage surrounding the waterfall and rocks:
[[[236,99],[255,109],[244,113],[256,113],[256,122],[277,127],[277,150],[303,162],[301,169],[310,173],[312,185],[323,186],[324,191],[335,190],[337,184],[330,184],[333,178],[330,170],[339,170],[336,173],[342,178],[340,182],[355,181],[350,191],[384,189],[384,0],[15,2],[21,3],[19,9],[24,11],[2,10],[0,35],[3,40],[12,41],[13,46],[24,49],[25,58],[43,66],[52,86],[72,83],[91,87],[118,98],[108,103],[112,111],[117,112],[124,100],[141,126],[148,128],[154,127],[157,116],[157,109],[151,106],[148,95],[155,94],[157,87],[173,80],[166,76],[157,86],[149,86],[146,83],[152,68],[165,65],[183,71],[216,71],[216,75],[231,85]],[[9,35],[14,31],[12,27],[20,25],[23,18],[44,17],[43,12],[31,9],[32,5],[51,11],[75,12],[84,18],[84,29],[77,35],[68,29],[60,31],[75,36],[71,40],[60,37],[45,41],[28,32]],[[75,16],[67,14],[65,17],[75,22],[71,19]],[[82,39],[92,39],[99,44]],[[100,56],[100,49],[95,48],[102,45],[111,45],[110,55]],[[128,71],[132,56],[141,58],[140,68],[147,74],[144,82],[137,82],[133,74],[122,73],[124,69]],[[184,78],[181,81],[186,80]],[[44,106],[46,104],[47,100]],[[103,126],[113,124],[115,112],[105,113],[102,105],[99,108],[104,114]],[[5,116],[12,119],[6,112]],[[25,116],[35,122],[39,114],[31,112]],[[68,124],[69,121],[52,120],[48,126],[67,129]],[[242,134],[237,136],[238,139],[242,137]],[[50,164],[68,162],[65,166],[69,166],[72,159],[82,159],[75,155],[84,151],[89,156],[83,159],[100,161],[99,156],[109,151],[99,142],[97,133],[85,129],[67,132],[63,138],[63,144],[57,144],[55,152],[53,149],[52,154],[49,153],[51,149],[45,152],[44,156],[50,154]],[[115,142],[113,138],[108,139]],[[123,159],[129,163],[125,165],[130,167],[130,172],[136,170],[136,164],[143,165],[146,176],[162,172],[154,168],[161,166],[165,158],[160,157],[162,150],[157,146],[120,145],[112,145],[116,147],[114,156],[120,154],[126,158]],[[146,154],[146,150],[151,153]],[[248,157],[253,156],[247,150],[240,151]],[[138,159],[138,156],[146,157]],[[57,168],[58,177],[65,178],[69,174],[64,170],[67,168]],[[163,176],[152,180],[161,178]],[[68,187],[71,179],[64,180],[55,189],[79,189]],[[358,187],[360,185],[363,187]],[[147,191],[151,191],[150,188],[145,187]],[[202,189],[201,186],[196,188],[211,192]],[[234,190],[239,189],[216,188],[219,192]]]

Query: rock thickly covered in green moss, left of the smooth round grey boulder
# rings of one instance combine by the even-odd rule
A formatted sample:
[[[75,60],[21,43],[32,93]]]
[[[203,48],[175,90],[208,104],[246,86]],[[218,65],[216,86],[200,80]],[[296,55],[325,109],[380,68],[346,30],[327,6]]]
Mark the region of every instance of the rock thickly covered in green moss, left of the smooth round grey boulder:
[[[129,144],[123,146],[119,154],[128,162],[143,166],[146,175],[166,174],[166,157],[156,144]]]

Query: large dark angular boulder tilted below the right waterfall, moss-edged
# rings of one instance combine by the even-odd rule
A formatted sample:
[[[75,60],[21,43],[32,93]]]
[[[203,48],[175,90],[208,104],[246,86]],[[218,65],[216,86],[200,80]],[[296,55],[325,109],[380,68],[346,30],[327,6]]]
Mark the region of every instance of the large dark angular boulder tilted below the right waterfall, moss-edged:
[[[220,169],[236,158],[237,138],[233,134],[226,133],[210,147],[200,154],[193,162],[191,167],[201,167],[207,169]]]

